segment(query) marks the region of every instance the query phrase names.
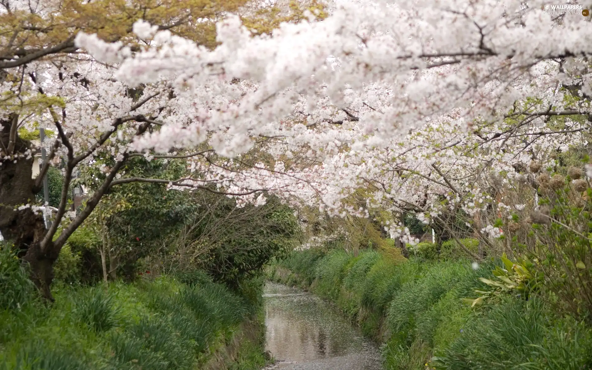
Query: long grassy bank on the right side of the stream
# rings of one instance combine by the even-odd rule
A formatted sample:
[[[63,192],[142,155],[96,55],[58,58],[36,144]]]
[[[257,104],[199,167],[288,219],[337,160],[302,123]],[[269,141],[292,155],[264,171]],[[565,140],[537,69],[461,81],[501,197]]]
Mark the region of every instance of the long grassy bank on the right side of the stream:
[[[592,330],[542,297],[502,294],[479,308],[496,263],[393,260],[374,250],[293,252],[268,277],[310,289],[382,344],[386,369],[588,369]]]

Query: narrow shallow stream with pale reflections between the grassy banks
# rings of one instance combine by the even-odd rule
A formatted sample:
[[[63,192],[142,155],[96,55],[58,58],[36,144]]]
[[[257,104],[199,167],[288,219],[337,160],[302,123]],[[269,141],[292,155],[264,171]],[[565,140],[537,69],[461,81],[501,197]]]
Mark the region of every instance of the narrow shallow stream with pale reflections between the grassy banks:
[[[273,368],[378,370],[375,346],[320,298],[285,285],[265,287],[266,350]]]

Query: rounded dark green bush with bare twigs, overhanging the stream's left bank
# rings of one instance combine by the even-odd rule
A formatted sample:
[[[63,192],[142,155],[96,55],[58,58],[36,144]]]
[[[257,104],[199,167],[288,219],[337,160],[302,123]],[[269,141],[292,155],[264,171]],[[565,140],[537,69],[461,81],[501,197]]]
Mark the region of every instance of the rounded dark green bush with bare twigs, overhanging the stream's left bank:
[[[274,257],[285,258],[294,249],[300,225],[277,198],[269,197],[260,207],[241,208],[227,197],[198,195],[204,199],[198,200],[195,221],[172,243],[168,263],[197,266],[215,281],[236,288],[240,276],[260,270]]]

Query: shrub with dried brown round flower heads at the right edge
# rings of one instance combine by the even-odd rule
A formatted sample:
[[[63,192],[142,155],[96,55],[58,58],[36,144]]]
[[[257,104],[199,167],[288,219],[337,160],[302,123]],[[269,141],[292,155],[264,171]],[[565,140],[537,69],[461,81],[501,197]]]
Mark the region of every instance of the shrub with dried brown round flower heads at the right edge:
[[[588,157],[584,160],[588,162]],[[555,295],[557,308],[592,317],[592,188],[580,178],[580,169],[570,172],[567,178],[540,175],[540,208],[528,218],[513,214],[504,227],[522,230],[515,233],[512,245],[519,255],[536,261],[543,288]],[[574,181],[570,176],[575,176]]]

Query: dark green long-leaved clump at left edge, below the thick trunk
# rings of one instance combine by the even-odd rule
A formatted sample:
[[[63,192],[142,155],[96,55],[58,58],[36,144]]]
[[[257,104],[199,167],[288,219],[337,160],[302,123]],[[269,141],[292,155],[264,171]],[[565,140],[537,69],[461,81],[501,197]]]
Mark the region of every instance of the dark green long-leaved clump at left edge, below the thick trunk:
[[[27,271],[5,242],[0,242],[0,292],[0,310],[18,310],[36,294]]]

